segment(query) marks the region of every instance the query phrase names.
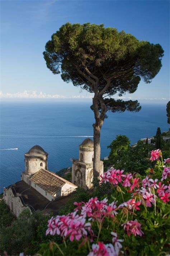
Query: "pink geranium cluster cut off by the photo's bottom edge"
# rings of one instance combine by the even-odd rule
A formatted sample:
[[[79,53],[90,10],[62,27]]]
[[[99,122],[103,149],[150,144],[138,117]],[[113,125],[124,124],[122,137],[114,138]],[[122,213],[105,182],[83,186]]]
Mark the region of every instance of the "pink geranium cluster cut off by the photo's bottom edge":
[[[118,254],[115,252],[113,244],[98,242],[98,244],[92,244],[92,251],[88,256],[118,256]]]

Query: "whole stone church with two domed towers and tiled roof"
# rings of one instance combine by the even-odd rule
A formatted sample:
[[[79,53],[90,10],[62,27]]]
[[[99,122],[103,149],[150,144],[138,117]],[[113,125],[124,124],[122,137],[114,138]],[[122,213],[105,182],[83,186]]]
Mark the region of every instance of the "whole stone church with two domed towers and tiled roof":
[[[93,141],[85,139],[79,146],[79,159],[72,161],[72,183],[48,170],[48,153],[39,145],[25,153],[25,171],[21,180],[4,188],[4,199],[13,214],[18,217],[24,208],[44,214],[58,210],[80,186],[90,189],[93,181]],[[103,162],[100,161],[100,174]]]

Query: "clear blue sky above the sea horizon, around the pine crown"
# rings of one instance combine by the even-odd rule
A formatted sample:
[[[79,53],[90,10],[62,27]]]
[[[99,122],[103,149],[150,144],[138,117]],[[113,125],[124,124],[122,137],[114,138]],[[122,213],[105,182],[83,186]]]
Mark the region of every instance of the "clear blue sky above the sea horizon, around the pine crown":
[[[104,23],[164,49],[162,68],[151,84],[140,82],[125,98],[167,103],[169,98],[169,1],[1,0],[1,97],[91,98],[46,67],[46,42],[62,24]]]

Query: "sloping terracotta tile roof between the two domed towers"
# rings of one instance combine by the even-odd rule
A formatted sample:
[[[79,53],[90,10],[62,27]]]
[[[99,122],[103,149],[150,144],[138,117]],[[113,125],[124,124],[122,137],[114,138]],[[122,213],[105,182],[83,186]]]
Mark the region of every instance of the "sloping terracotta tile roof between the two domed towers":
[[[47,191],[49,194],[54,196],[56,192],[62,188],[64,184],[70,183],[64,179],[62,179],[60,176],[56,175],[53,172],[41,169],[38,172],[36,172],[31,178],[30,181],[37,184],[40,188]],[[74,184],[72,184],[74,185]]]

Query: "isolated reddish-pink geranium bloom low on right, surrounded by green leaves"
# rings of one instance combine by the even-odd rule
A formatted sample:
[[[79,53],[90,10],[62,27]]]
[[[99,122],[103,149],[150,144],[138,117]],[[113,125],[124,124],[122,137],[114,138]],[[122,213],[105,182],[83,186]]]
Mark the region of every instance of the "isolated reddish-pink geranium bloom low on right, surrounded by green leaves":
[[[134,234],[142,236],[141,224],[137,220],[130,220],[127,223],[122,224],[123,229],[127,231],[127,235]]]

